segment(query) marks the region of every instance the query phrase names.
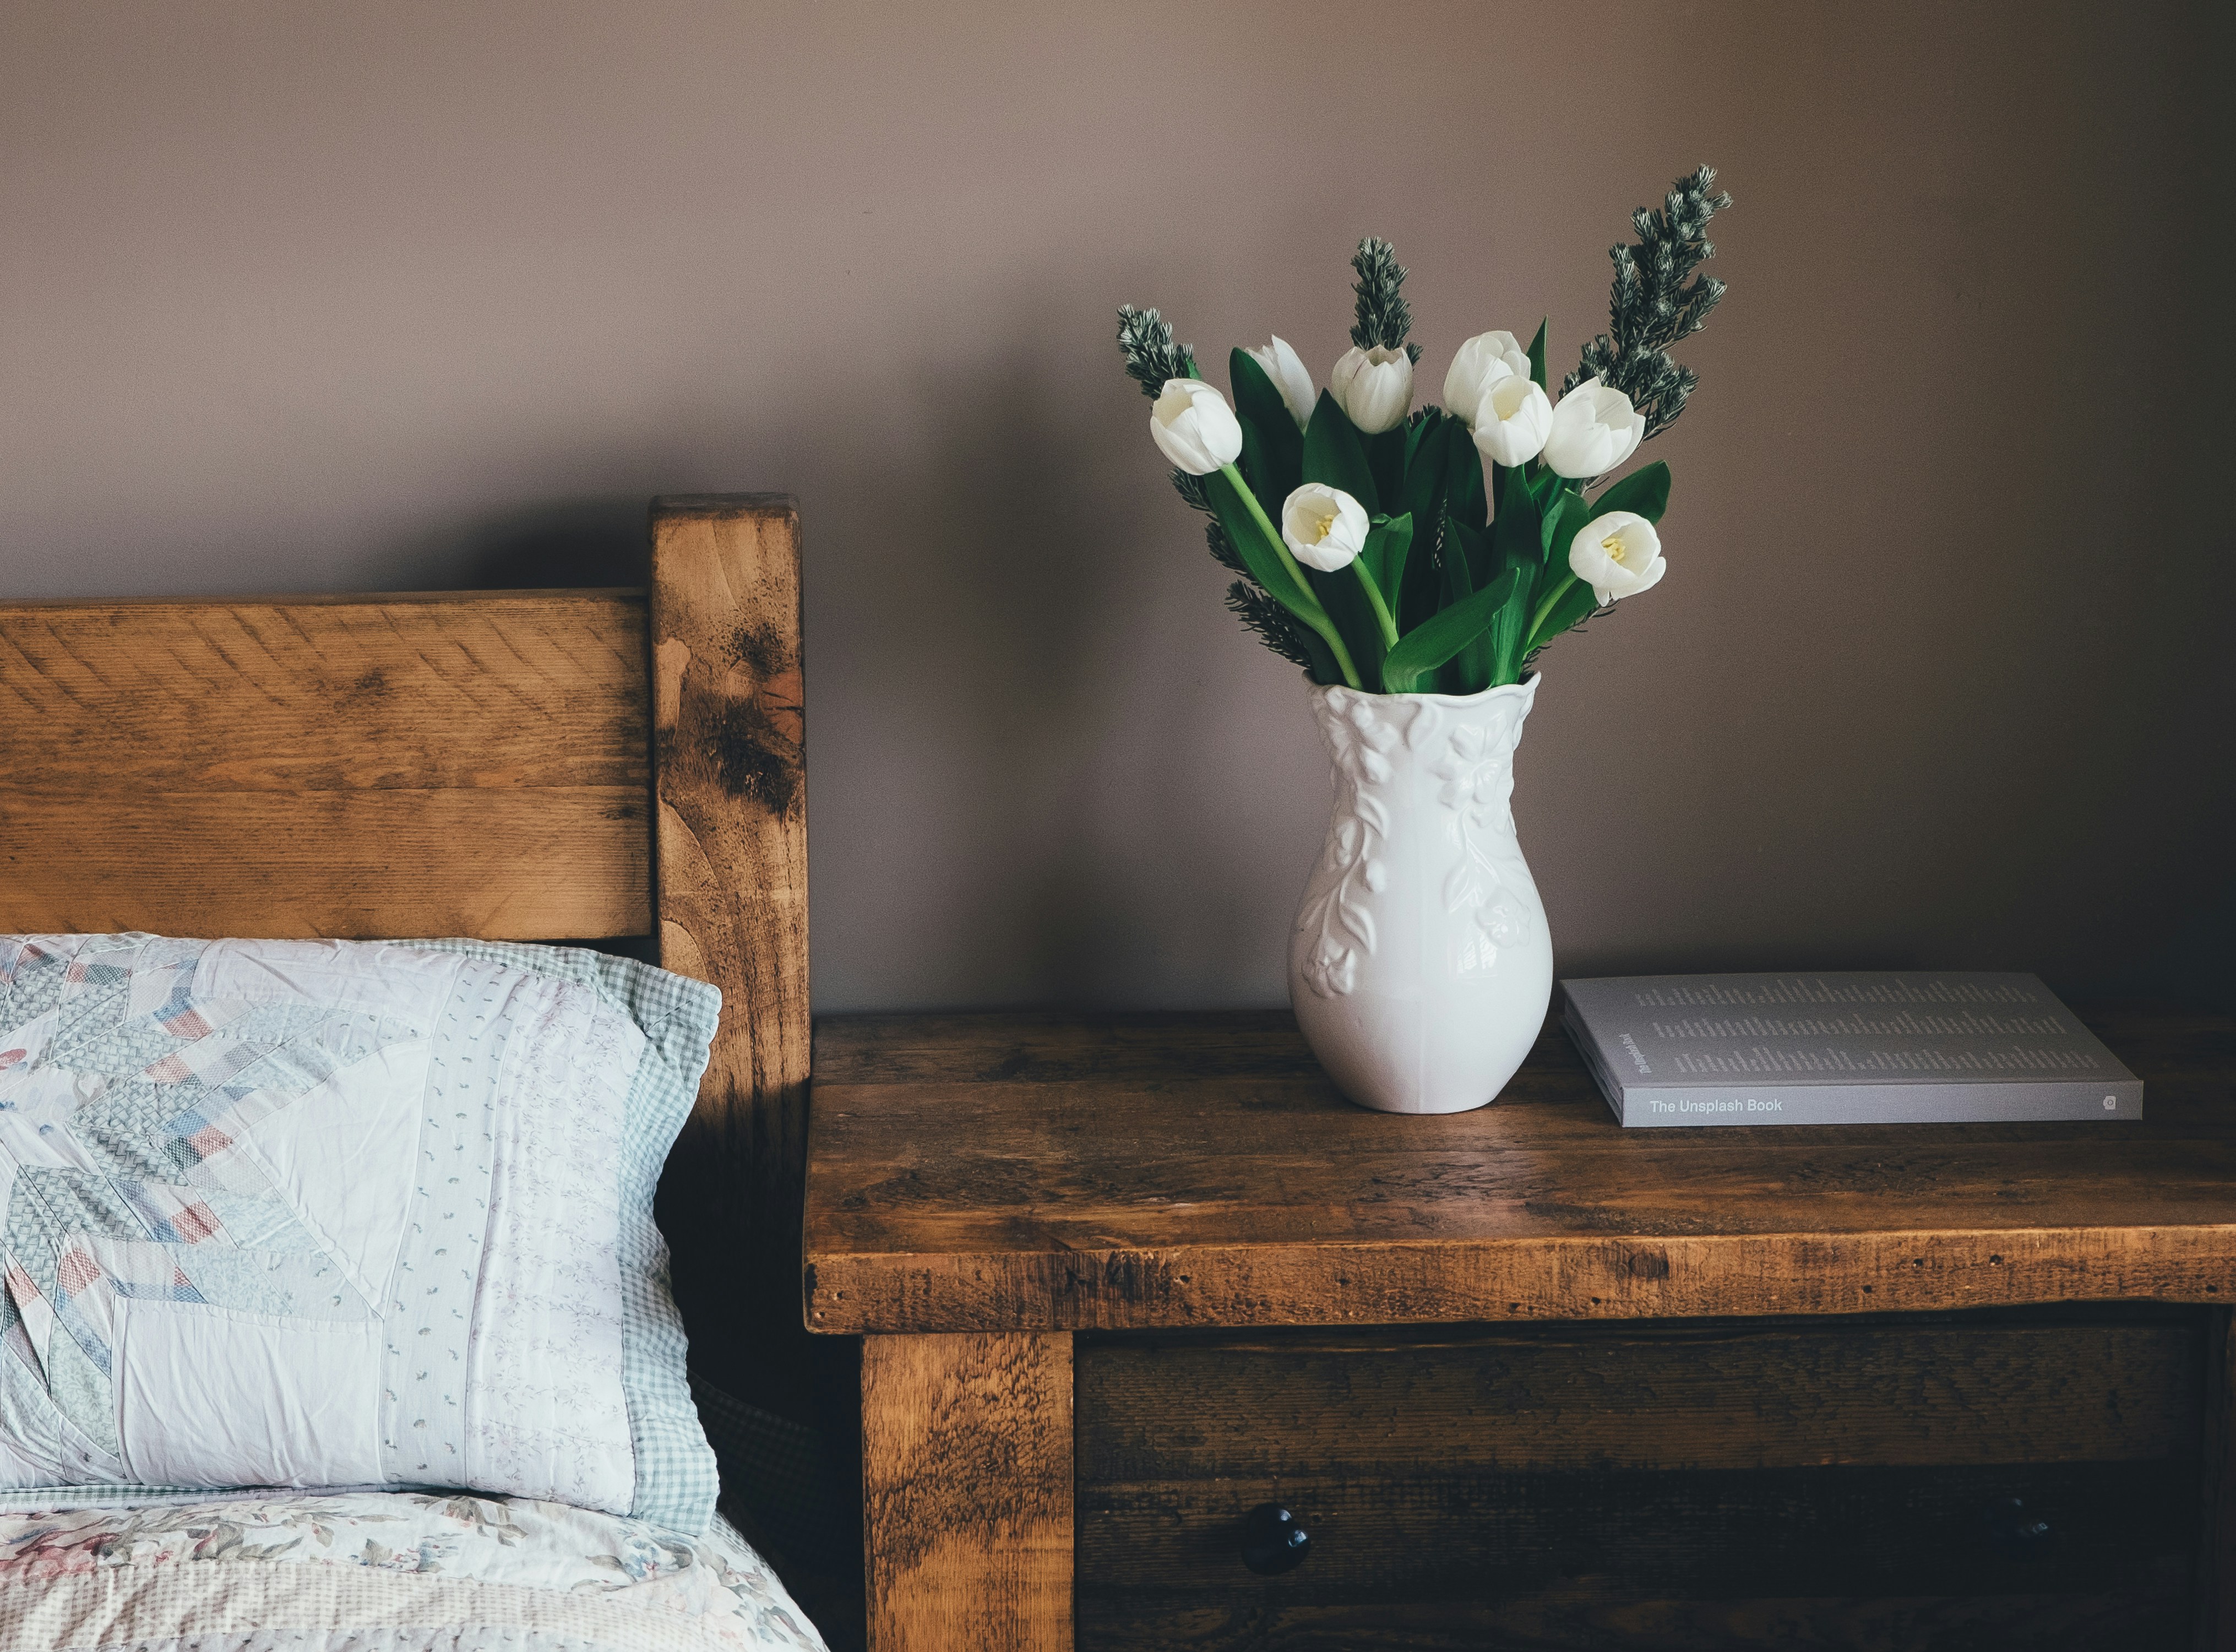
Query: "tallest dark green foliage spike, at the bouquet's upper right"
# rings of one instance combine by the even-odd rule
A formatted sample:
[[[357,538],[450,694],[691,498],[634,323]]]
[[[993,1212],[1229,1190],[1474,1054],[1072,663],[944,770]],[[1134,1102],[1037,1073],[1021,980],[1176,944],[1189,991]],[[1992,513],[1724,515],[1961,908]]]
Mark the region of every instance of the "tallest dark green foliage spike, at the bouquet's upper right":
[[[1583,360],[1561,389],[1572,391],[1599,378],[1630,398],[1646,418],[1646,440],[1677,423],[1699,376],[1670,360],[1670,346],[1708,324],[1708,311],[1724,297],[1724,284],[1697,275],[1715,257],[1708,219],[1731,206],[1715,190],[1715,168],[1704,165],[1677,179],[1661,210],[1639,208],[1630,226],[1637,246],[1612,246],[1614,286],[1608,295],[1608,331],[1583,346]]]

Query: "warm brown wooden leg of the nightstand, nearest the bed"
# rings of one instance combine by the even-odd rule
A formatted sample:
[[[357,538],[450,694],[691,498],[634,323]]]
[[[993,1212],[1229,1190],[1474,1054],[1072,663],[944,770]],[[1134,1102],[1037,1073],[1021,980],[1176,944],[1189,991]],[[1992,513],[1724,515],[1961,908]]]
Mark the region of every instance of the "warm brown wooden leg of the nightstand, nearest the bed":
[[[1071,1652],[1071,1337],[868,1337],[870,1652]]]

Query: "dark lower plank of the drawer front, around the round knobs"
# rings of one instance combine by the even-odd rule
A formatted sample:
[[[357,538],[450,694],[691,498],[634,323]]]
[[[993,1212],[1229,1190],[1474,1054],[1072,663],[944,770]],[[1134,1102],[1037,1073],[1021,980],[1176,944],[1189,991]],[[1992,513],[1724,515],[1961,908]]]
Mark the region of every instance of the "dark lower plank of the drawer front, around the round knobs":
[[[1232,1475],[1080,1489],[1080,1596],[1176,1605],[1245,1592],[1286,1601],[1487,1601],[1603,1576],[1652,1598],[1997,1594],[2131,1587],[2189,1565],[2194,1460],[1740,1473]],[[1986,1513],[2017,1496],[2050,1527],[2006,1556]],[[1313,1536],[1261,1580],[1241,1516],[1281,1502]],[[2187,1623],[2182,1632],[2187,1639]]]

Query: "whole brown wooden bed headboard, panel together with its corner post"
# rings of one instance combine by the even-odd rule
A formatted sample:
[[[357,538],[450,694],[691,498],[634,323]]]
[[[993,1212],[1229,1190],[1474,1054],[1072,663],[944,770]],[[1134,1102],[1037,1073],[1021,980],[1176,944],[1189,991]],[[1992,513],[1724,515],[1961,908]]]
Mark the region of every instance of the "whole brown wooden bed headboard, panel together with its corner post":
[[[798,510],[651,532],[648,590],[0,601],[0,932],[655,943],[722,988],[662,1183],[693,1361],[767,1393],[805,1341]]]

